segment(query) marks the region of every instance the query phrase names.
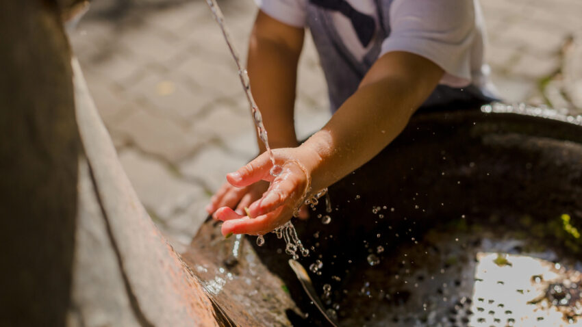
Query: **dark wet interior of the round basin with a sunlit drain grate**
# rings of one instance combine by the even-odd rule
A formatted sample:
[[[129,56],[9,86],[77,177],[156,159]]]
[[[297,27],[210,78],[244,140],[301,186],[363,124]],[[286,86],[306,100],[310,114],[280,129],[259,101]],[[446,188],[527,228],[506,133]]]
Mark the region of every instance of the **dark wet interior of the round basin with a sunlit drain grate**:
[[[375,159],[330,187],[331,213],[322,200],[312,218],[294,220],[312,249],[299,261],[306,269],[322,262],[309,275],[329,315],[340,326],[525,326],[523,315],[535,315],[528,319],[538,326],[581,324],[582,127],[548,118],[554,114],[418,114]],[[218,233],[212,228],[205,233]],[[271,233],[259,247],[254,239],[262,265],[299,309],[287,311],[291,324],[327,326],[290,269],[283,241]],[[523,271],[524,258],[552,265],[547,270],[559,277],[544,284],[541,273]],[[559,318],[509,275],[536,280]],[[486,283],[498,289],[481,298]],[[520,301],[522,311],[511,309]]]

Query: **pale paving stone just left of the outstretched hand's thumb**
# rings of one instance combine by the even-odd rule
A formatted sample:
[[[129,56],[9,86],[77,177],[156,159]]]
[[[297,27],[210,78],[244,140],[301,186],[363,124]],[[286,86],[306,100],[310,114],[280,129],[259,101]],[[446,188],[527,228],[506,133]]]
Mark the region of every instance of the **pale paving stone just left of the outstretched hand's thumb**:
[[[226,174],[244,166],[246,160],[236,157],[218,146],[207,146],[194,157],[184,161],[179,170],[186,176],[202,179],[216,192],[226,180]]]

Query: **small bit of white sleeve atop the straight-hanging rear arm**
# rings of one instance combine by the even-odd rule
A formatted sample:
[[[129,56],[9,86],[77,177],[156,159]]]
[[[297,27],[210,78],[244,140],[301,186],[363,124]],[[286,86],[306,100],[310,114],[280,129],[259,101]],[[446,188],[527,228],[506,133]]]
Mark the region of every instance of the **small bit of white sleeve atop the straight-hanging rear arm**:
[[[259,9],[281,23],[305,27],[307,0],[255,0]]]

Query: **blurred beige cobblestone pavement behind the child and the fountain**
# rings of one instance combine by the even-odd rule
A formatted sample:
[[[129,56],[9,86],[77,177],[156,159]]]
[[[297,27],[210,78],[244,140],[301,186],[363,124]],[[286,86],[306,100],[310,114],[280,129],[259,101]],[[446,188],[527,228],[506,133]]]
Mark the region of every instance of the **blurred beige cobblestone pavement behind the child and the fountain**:
[[[253,1],[219,2],[246,53]],[[582,1],[483,0],[482,7],[488,62],[505,99],[582,107],[582,51],[572,45],[582,42]],[[205,1],[94,1],[71,44],[138,196],[170,239],[188,243],[225,174],[257,152],[235,65]],[[307,38],[296,105],[300,137],[325,124],[327,105]]]

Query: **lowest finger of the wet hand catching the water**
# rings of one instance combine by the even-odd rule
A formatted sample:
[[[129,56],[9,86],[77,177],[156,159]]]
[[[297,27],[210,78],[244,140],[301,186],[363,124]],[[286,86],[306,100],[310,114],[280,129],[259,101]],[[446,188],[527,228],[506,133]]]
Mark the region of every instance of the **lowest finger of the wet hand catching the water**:
[[[229,235],[229,233],[264,235],[270,231],[273,231],[273,229],[278,226],[277,221],[279,220],[279,215],[283,213],[283,210],[281,209],[273,211],[268,215],[261,215],[257,218],[249,218],[247,216],[238,219],[227,220],[223,222],[223,226],[220,228],[220,231],[223,233],[223,235]]]

